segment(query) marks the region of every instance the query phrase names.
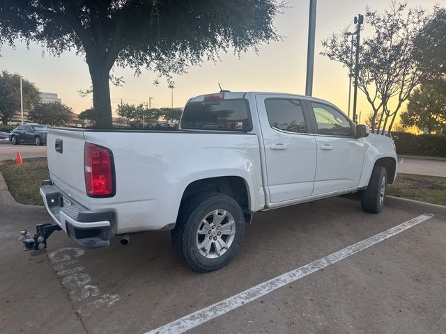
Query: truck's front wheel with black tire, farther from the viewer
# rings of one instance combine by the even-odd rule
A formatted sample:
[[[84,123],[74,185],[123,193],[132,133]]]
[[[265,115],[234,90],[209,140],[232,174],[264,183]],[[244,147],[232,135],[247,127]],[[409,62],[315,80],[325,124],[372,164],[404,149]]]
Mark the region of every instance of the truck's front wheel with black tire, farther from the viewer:
[[[383,166],[374,166],[367,189],[361,191],[361,207],[365,212],[377,214],[385,204],[387,192],[387,170]]]

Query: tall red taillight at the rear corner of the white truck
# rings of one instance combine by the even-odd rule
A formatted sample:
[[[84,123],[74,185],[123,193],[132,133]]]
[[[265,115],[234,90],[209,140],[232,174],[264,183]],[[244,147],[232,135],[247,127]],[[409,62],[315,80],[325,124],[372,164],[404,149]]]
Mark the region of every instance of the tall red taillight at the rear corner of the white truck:
[[[86,143],[84,164],[87,195],[91,197],[114,196],[112,151]]]

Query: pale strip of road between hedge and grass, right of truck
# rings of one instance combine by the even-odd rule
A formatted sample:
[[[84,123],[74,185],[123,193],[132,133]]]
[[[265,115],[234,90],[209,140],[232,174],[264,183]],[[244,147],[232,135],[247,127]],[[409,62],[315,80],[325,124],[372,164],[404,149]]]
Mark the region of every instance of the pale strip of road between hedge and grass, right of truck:
[[[446,177],[446,160],[399,158],[398,173]]]

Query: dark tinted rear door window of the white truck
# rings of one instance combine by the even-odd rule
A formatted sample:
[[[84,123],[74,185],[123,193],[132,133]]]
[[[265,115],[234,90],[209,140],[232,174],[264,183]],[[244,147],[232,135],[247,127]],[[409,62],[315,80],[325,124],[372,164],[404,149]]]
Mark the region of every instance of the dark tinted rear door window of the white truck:
[[[266,99],[266,113],[272,129],[306,134],[302,104],[299,100]]]

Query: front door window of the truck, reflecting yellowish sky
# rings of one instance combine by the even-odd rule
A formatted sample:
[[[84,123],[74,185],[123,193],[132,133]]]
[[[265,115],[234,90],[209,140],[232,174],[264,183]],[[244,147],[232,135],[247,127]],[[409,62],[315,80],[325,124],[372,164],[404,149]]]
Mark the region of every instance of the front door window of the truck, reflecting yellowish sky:
[[[351,122],[342,113],[331,106],[312,102],[314,116],[318,125],[318,134],[328,136],[353,136]]]

